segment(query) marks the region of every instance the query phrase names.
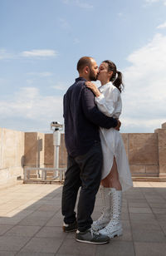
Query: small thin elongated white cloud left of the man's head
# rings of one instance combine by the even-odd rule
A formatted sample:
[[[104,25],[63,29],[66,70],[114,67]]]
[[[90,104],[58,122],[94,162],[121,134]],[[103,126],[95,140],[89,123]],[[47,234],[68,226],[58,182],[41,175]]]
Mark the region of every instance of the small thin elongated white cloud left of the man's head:
[[[21,52],[22,57],[56,57],[57,52],[49,49],[31,50]]]

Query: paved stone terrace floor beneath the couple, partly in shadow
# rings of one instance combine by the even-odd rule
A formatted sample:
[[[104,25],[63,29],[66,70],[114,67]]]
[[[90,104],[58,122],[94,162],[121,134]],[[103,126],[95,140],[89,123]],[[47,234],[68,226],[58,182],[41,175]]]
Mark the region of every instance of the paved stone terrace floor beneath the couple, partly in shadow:
[[[165,256],[166,183],[134,182],[123,195],[123,236],[110,244],[76,242],[62,232],[61,185],[0,190],[0,256]],[[97,195],[93,218],[100,216]]]

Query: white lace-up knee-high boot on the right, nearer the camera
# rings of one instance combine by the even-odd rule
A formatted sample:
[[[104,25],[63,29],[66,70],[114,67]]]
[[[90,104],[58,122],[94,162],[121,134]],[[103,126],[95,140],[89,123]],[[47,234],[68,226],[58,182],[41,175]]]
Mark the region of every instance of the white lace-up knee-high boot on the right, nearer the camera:
[[[105,234],[111,238],[120,236],[122,234],[121,224],[121,204],[122,204],[122,191],[112,191],[112,217],[109,224],[104,229],[100,230],[100,234]]]

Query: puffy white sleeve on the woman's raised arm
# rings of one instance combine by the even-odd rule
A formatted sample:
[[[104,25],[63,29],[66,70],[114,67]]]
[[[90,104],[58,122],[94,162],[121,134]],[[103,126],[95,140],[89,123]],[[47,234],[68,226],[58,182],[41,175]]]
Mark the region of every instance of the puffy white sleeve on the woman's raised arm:
[[[119,92],[117,90],[105,91],[101,93],[99,97],[95,97],[95,103],[99,110],[105,114],[105,116],[113,116],[115,113],[115,105],[119,98]]]

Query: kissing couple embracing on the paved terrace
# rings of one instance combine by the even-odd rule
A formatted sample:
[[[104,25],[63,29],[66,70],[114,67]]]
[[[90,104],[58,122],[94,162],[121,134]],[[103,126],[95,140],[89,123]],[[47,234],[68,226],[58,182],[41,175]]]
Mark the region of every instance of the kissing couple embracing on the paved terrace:
[[[82,243],[106,244],[122,234],[122,191],[132,186],[119,132],[122,74],[110,61],[98,68],[92,57],[81,57],[77,71],[79,77],[66,91],[63,102],[68,153],[61,205],[63,230],[76,230],[76,240]],[[90,82],[97,79],[101,82],[99,89]],[[91,214],[99,187],[103,212],[93,222]]]

